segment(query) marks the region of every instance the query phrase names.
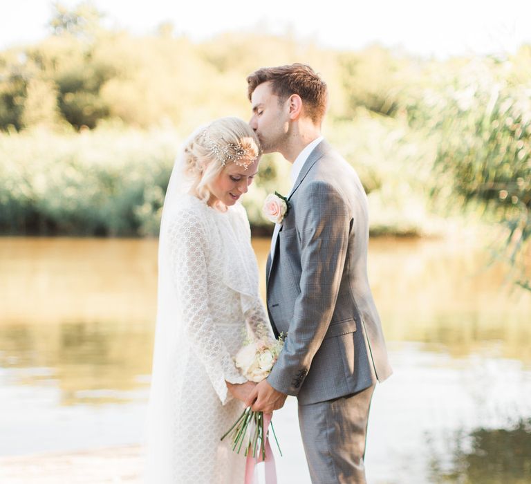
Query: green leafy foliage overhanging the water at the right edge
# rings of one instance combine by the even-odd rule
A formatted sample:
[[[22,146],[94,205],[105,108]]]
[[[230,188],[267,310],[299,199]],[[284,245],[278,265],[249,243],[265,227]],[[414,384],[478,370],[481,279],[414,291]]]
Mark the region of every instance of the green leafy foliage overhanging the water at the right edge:
[[[413,127],[437,141],[431,194],[503,225],[504,252],[523,286],[531,240],[531,68],[521,67],[528,56],[524,48],[503,62],[448,66],[407,104]]]

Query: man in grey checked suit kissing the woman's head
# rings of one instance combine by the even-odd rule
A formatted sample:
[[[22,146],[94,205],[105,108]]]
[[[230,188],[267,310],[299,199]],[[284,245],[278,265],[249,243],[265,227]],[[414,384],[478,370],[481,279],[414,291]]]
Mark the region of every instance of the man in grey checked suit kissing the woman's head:
[[[328,93],[312,68],[261,68],[247,81],[263,152],[292,164],[266,274],[272,328],[286,340],[247,404],[270,412],[297,396],[312,482],[364,483],[369,406],[376,381],[391,375],[367,279],[366,195],[321,136]]]

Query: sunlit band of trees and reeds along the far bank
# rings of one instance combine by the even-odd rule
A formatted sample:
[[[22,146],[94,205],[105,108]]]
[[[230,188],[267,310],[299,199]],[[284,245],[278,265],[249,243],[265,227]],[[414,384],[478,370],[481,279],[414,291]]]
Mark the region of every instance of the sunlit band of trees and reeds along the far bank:
[[[103,25],[89,3],[57,4],[47,39],[0,53],[1,234],[156,235],[187,133],[247,119],[255,68],[304,62],[328,83],[324,134],[362,178],[373,234],[433,234],[448,216],[481,216],[525,266],[531,46],[442,61],[288,34],[193,42],[169,24],[142,37]],[[270,230],[261,201],[286,192],[288,171],[264,157],[245,200],[256,232]]]

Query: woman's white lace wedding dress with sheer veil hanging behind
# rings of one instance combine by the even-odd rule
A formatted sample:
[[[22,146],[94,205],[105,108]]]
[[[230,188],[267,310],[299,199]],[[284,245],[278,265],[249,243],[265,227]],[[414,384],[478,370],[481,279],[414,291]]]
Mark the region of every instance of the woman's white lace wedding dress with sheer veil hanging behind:
[[[243,452],[220,440],[243,411],[225,380],[246,381],[232,360],[245,328],[272,337],[247,214],[190,195],[173,205],[160,231],[146,482],[243,483]]]

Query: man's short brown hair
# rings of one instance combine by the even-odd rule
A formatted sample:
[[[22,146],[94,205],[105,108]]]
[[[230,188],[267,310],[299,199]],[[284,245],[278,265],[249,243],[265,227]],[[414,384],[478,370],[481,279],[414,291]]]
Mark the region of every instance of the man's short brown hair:
[[[279,67],[263,67],[248,75],[248,96],[251,100],[252,93],[263,82],[271,82],[271,90],[284,102],[290,95],[297,94],[301,97],[306,110],[306,115],[321,124],[326,113],[328,89],[317,73],[306,64],[290,64]]]

